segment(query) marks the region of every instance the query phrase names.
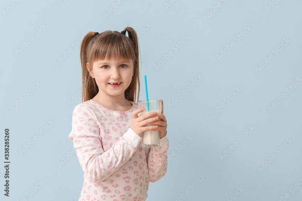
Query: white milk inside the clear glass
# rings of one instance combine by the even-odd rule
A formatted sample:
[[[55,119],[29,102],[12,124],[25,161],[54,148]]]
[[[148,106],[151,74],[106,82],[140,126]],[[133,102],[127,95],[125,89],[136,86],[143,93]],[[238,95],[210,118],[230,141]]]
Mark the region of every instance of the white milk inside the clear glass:
[[[149,111],[151,112],[151,111]],[[143,112],[140,112],[138,113],[138,116],[140,117],[141,115],[144,115],[146,113],[149,113],[148,112],[148,109],[147,111],[143,111]],[[152,111],[154,112],[154,111]],[[161,114],[162,111],[155,111],[156,114]],[[153,118],[150,117],[150,118]],[[160,119],[158,119],[160,121]],[[156,126],[157,124],[152,124],[152,123],[149,123],[149,124],[146,124],[145,126]],[[158,125],[159,126],[159,125]],[[153,131],[153,130],[147,130],[143,133],[143,136],[142,136],[142,143],[143,143],[143,146],[144,147],[154,147],[154,146],[158,146],[159,145],[159,137],[160,137],[160,131],[159,130],[156,130],[156,131]]]

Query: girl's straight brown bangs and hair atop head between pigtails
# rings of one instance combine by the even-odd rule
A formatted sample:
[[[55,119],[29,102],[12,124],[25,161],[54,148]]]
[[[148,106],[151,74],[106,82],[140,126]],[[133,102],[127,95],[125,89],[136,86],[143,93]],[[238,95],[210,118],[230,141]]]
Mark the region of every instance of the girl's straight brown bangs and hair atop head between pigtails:
[[[135,58],[134,45],[130,39],[119,32],[108,33],[96,38],[91,48],[91,62],[98,60],[127,60]]]

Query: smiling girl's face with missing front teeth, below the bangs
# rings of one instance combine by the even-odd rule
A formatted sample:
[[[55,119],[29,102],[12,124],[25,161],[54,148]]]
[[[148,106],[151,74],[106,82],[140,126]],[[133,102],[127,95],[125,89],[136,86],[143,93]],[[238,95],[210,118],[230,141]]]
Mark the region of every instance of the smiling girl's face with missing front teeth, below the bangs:
[[[88,69],[89,63],[87,63]],[[99,88],[99,93],[124,98],[124,92],[131,83],[134,74],[133,61],[125,60],[99,60],[92,64],[91,77]],[[120,83],[114,87],[110,83]],[[104,95],[104,94],[103,94]]]

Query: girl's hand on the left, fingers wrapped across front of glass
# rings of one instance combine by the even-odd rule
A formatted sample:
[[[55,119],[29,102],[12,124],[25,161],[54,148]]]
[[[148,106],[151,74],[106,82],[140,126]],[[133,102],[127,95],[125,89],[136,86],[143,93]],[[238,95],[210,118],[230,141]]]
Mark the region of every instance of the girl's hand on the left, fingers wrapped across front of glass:
[[[143,136],[143,132],[146,130],[152,130],[152,129],[156,129],[158,126],[154,125],[154,126],[146,126],[146,124],[152,123],[153,121],[156,121],[159,119],[159,117],[153,117],[154,115],[156,115],[156,112],[149,112],[146,113],[142,116],[138,116],[138,113],[144,111],[144,108],[140,108],[137,110],[134,110],[132,112],[132,122],[130,125],[130,128],[136,133],[138,134],[140,137]],[[150,118],[153,117],[153,118]]]

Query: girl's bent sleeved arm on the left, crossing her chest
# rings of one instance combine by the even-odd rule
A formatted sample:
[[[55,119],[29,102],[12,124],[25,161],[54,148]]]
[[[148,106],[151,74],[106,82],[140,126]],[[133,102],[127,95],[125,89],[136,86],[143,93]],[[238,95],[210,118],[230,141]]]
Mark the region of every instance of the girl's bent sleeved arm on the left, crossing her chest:
[[[105,133],[100,130],[97,122],[98,118],[91,109],[76,106],[69,134],[85,176],[95,183],[104,181],[128,161],[142,139],[129,128],[111,149],[104,151],[101,135]]]

